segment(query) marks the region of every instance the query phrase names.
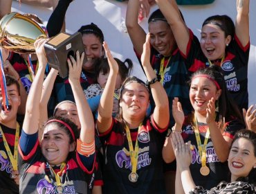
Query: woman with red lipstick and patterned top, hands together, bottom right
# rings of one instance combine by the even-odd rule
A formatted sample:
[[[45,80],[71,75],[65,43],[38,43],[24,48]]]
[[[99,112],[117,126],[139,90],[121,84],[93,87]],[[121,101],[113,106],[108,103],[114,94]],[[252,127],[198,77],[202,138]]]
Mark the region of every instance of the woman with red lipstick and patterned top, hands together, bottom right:
[[[237,132],[231,143],[228,156],[230,181],[220,182],[218,186],[206,190],[196,186],[188,170],[191,162],[190,143],[184,143],[181,134],[174,133],[172,145],[177,159],[176,185],[185,194],[196,193],[256,193],[256,134],[249,130]],[[182,173],[182,175],[181,175]],[[182,188],[183,187],[183,188]]]

